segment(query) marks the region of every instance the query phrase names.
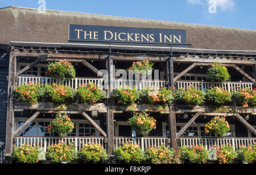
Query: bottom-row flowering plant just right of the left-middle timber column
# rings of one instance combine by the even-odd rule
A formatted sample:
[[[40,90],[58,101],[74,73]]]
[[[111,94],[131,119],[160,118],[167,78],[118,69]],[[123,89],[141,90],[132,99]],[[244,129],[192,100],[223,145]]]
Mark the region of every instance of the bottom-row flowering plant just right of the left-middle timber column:
[[[131,141],[123,143],[122,146],[115,148],[114,156],[117,160],[131,164],[139,164],[145,160],[144,151]]]

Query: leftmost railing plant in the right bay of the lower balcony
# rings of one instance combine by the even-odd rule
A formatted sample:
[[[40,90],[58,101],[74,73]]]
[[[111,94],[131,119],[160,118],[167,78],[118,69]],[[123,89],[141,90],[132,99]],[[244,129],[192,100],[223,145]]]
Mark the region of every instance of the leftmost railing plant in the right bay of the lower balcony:
[[[208,151],[201,144],[199,146],[181,146],[180,153],[182,160],[189,160],[191,163],[205,164],[208,160]]]

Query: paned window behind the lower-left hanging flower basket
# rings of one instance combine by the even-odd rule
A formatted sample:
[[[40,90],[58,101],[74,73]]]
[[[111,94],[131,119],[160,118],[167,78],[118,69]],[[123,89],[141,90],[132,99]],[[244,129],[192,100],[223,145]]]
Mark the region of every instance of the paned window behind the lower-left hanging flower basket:
[[[17,130],[27,119],[18,119],[15,121],[15,130]],[[36,119],[25,127],[18,136],[54,136],[53,133],[49,133],[46,127],[51,122],[51,119]],[[72,120],[75,123],[74,129],[67,136],[100,136],[100,132],[89,123],[84,120]],[[100,123],[96,121],[96,123]]]

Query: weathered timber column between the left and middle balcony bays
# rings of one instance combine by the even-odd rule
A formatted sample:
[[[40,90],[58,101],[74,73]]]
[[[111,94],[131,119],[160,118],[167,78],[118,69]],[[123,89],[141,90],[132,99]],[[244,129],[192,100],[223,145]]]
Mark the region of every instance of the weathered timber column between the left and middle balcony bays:
[[[114,151],[114,110],[113,110],[113,99],[110,99],[110,93],[114,87],[114,68],[113,59],[111,56],[111,46],[109,46],[109,56],[106,57],[106,68],[108,70],[108,89],[107,91],[107,137],[108,137],[108,154],[113,155]]]

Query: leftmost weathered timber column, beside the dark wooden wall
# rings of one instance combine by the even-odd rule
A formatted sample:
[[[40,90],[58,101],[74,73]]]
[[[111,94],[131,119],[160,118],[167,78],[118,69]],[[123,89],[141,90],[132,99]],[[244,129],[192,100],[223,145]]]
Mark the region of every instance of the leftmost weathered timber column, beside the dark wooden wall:
[[[9,77],[8,77],[8,106],[6,118],[6,142],[5,142],[5,163],[11,164],[11,152],[13,151],[14,133],[14,110],[12,93],[15,86],[16,57],[13,56],[13,49],[10,52]]]

